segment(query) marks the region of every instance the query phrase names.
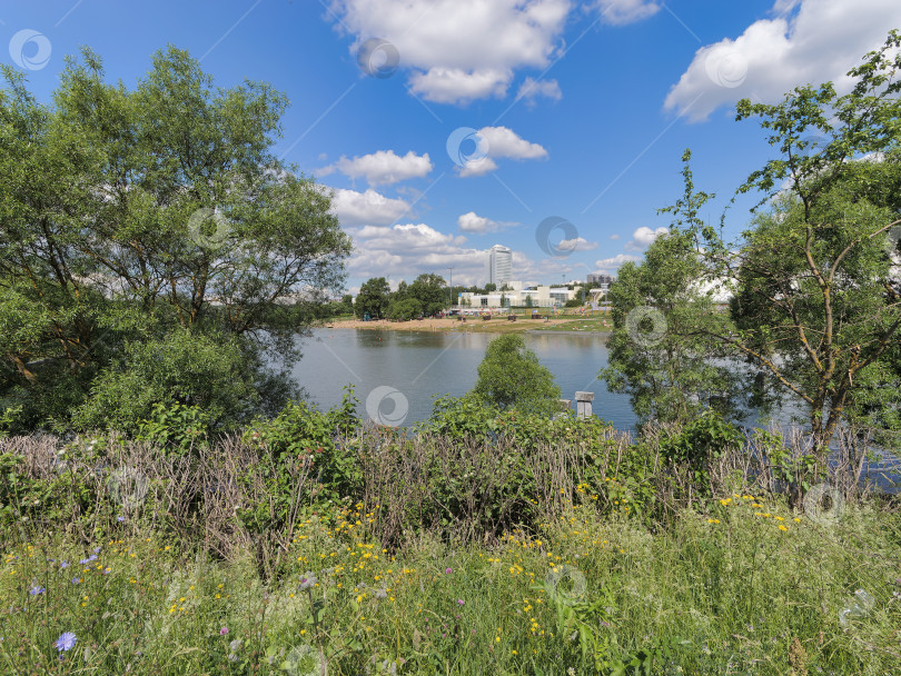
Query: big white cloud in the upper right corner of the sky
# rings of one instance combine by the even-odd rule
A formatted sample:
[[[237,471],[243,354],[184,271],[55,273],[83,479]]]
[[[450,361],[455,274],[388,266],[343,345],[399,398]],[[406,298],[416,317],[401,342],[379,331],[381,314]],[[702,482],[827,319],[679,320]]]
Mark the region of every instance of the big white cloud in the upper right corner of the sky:
[[[832,81],[846,92],[848,70],[901,26],[898,0],[776,0],[773,14],[699,49],[664,107],[699,121],[741,98],[780,101],[800,84]]]

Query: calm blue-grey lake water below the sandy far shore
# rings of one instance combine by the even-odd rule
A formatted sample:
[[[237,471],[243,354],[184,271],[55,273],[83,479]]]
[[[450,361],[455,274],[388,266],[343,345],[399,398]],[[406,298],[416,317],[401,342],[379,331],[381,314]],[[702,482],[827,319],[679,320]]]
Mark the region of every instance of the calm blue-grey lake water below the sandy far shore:
[[[573,407],[577,390],[594,392],[593,409],[600,418],[616,429],[634,428],[628,397],[608,392],[597,379],[607,365],[605,334],[536,331],[523,336],[554,375],[563,398],[573,399]],[[475,386],[485,348],[496,337],[463,331],[316,329],[309,338],[298,337],[304,358],[294,377],[323,410],[340,404],[341,388],[354,384],[362,408],[370,417],[412,425],[428,418],[436,396],[462,396]]]

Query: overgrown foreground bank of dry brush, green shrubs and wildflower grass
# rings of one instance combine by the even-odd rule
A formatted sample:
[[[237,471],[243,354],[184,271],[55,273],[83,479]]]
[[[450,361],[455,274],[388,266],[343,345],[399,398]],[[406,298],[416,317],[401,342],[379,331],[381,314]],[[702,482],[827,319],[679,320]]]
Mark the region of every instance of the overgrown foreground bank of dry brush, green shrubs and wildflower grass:
[[[0,440],[2,673],[901,672],[891,500],[790,503],[753,441],[671,464],[701,427],[455,415]]]

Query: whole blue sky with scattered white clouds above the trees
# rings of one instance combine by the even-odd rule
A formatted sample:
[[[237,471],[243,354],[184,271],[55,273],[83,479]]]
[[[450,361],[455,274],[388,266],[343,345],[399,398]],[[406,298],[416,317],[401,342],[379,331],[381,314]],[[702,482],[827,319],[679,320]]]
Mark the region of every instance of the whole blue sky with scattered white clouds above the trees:
[[[355,291],[450,267],[482,285],[494,243],[516,279],[615,274],[669,225],[685,148],[713,220],[773,157],[736,100],[846,89],[891,28],[897,0],[46,0],[0,3],[0,58],[42,100],[81,44],[129,87],[167,43],[218,86],[271,82],[291,101],[275,151],[335,190]],[[543,238],[548,218],[568,225]]]

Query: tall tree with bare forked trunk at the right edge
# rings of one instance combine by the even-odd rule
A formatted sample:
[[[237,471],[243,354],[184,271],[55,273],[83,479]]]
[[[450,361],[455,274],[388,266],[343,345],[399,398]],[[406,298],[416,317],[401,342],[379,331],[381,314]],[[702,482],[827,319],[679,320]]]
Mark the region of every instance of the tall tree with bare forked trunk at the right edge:
[[[766,209],[739,243],[691,226],[707,267],[736,287],[737,330],[710,336],[805,407],[819,457],[843,422],[898,425],[901,296],[890,232],[901,225],[892,195],[901,180],[899,48],[892,31],[848,73],[848,95],[828,82],[776,105],[740,101],[739,119],[759,118],[779,150],[739,189],[761,193]]]

